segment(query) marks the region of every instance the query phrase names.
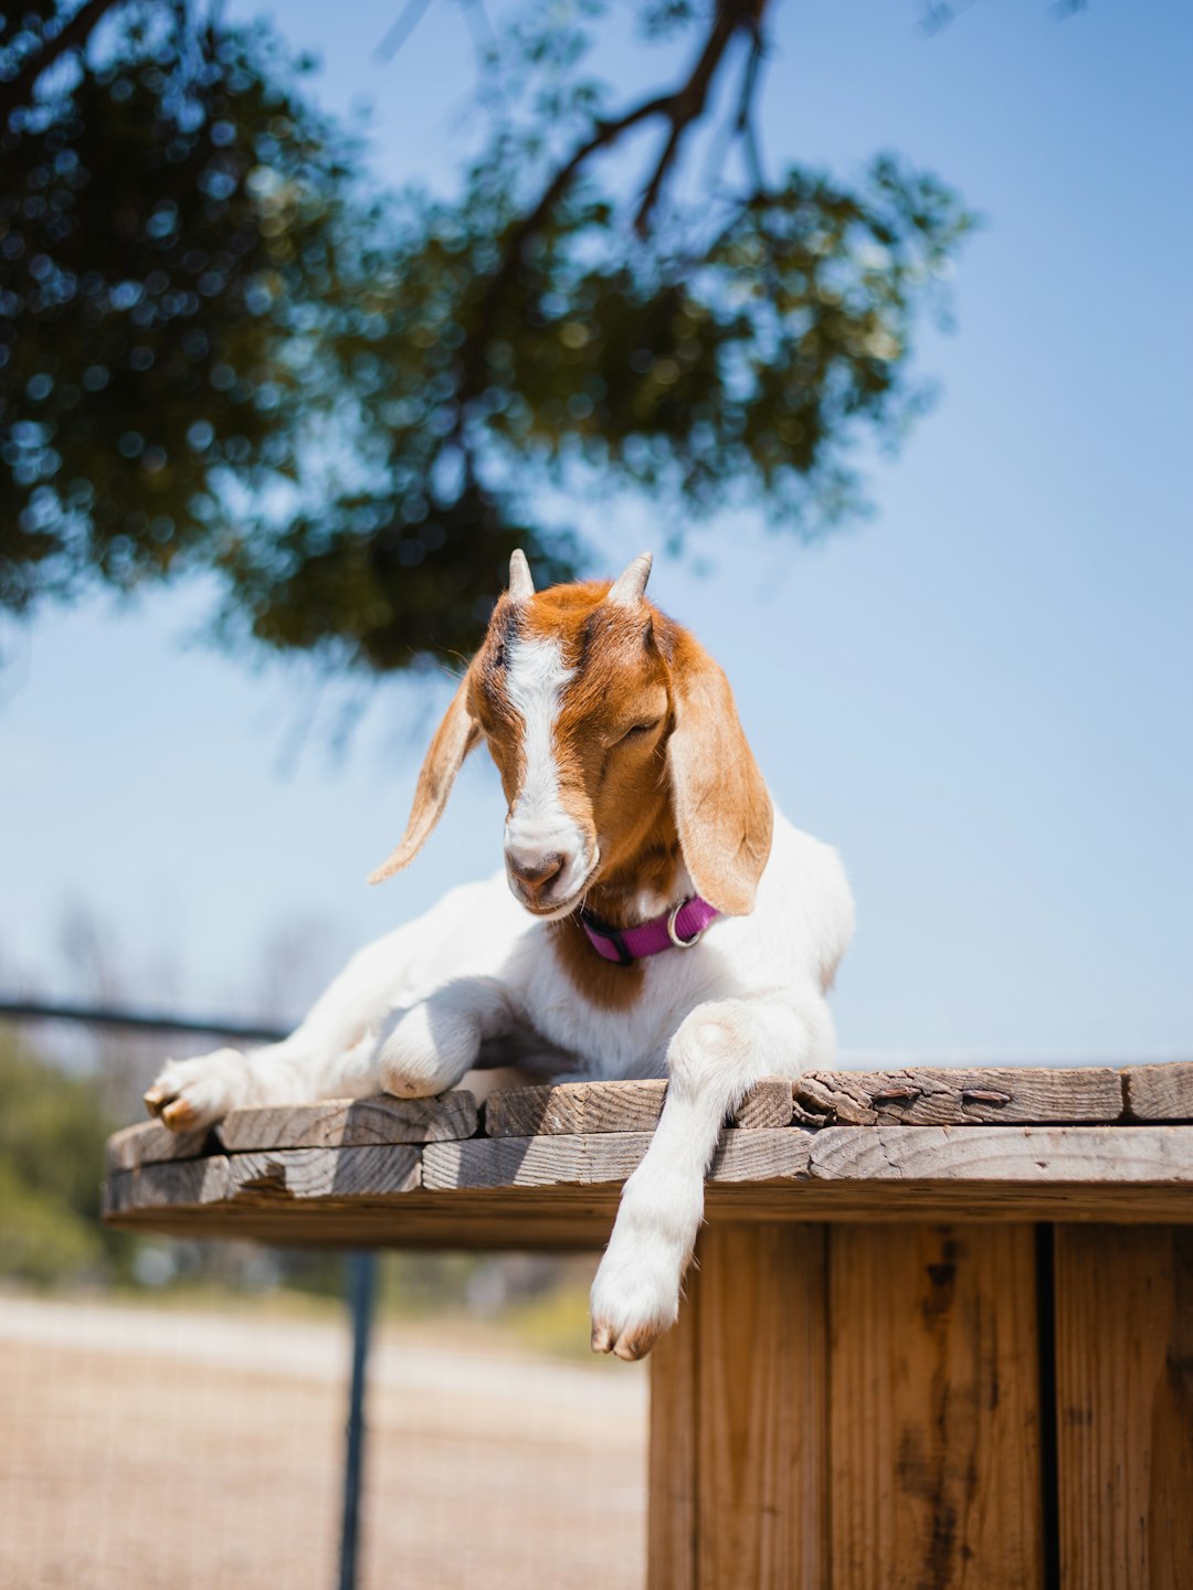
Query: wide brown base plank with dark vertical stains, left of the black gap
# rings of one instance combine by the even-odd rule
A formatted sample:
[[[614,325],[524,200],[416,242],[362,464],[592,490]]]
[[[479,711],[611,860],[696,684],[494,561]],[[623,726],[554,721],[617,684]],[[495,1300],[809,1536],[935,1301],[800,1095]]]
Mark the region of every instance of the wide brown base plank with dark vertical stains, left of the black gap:
[[[829,1245],[832,1584],[1039,1590],[1031,1226]]]

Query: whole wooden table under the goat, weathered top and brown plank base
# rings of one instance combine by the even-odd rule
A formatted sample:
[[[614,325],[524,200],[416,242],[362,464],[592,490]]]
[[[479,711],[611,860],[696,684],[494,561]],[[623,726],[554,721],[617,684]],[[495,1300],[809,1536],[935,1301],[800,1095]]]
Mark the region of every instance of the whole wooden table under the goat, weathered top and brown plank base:
[[[108,1145],[186,1237],[598,1248],[662,1083]],[[811,1073],[722,1132],[651,1359],[651,1590],[1193,1585],[1193,1064]]]

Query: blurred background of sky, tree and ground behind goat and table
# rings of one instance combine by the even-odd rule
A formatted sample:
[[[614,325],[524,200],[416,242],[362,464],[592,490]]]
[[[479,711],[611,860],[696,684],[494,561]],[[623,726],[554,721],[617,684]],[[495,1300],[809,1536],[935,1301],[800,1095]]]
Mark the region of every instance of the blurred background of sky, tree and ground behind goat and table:
[[[291,1024],[499,859],[363,882],[511,547],[651,547],[846,1064],[1188,1056],[1187,8],[0,17],[0,1000]],[[0,1021],[0,1584],[336,1582],[342,1261],[97,1220],[210,1046]],[[589,1275],[382,1262],[361,1584],[641,1584]]]

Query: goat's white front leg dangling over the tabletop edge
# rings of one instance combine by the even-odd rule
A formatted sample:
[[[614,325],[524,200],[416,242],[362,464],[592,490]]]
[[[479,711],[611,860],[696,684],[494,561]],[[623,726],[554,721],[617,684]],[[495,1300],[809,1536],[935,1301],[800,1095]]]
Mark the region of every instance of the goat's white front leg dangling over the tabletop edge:
[[[764,1076],[797,1076],[826,1064],[832,1048],[819,995],[716,1000],[687,1016],[668,1048],[671,1078],[654,1140],[622,1189],[592,1285],[593,1352],[643,1358],[674,1324],[725,1116]]]

